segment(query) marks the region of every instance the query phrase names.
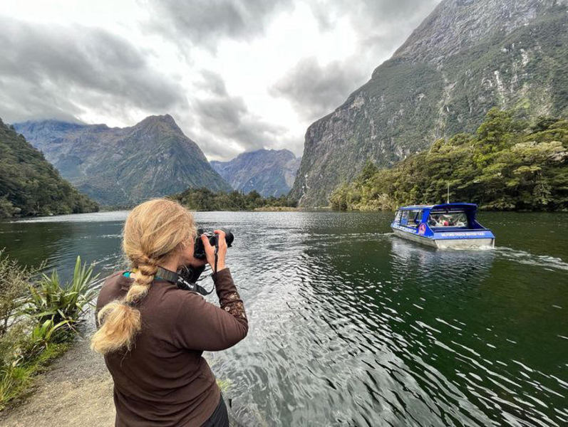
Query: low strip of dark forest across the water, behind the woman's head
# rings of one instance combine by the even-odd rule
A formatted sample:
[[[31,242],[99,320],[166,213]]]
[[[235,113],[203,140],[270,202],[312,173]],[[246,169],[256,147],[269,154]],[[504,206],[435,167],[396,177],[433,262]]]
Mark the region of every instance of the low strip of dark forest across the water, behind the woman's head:
[[[179,201],[192,211],[253,211],[273,206],[296,206],[296,201],[286,196],[262,197],[257,191],[243,194],[239,191],[214,192],[210,189],[187,189],[173,194],[171,199]]]

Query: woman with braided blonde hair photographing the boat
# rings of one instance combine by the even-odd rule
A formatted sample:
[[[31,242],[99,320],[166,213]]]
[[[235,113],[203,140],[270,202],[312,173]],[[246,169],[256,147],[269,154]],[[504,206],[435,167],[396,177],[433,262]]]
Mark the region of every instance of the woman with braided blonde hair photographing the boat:
[[[228,426],[215,376],[202,357],[237,344],[248,332],[242,300],[225,267],[218,235],[212,275],[220,307],[177,288],[182,265],[215,265],[215,247],[201,236],[207,261],[193,257],[192,214],[175,201],[146,201],[128,215],[123,251],[130,271],[110,275],[96,307],[91,347],[113,376],[115,426]],[[169,280],[169,281],[168,281]]]

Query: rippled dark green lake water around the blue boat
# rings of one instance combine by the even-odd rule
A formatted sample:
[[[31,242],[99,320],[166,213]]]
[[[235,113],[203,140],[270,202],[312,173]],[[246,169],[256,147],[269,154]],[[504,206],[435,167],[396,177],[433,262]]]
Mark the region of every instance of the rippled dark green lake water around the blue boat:
[[[0,248],[60,269],[123,265],[125,212],[0,223]],[[482,213],[497,248],[435,251],[391,214],[196,214],[230,227],[250,330],[207,354],[249,426],[566,426],[567,214]],[[210,288],[210,278],[205,287]]]

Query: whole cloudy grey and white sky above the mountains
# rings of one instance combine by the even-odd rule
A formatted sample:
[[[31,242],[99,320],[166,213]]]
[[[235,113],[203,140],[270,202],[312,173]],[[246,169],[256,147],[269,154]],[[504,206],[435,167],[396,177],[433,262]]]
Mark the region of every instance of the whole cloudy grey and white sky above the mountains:
[[[306,128],[439,0],[18,0],[0,10],[0,117],[131,126],[169,113],[211,159],[301,155]]]

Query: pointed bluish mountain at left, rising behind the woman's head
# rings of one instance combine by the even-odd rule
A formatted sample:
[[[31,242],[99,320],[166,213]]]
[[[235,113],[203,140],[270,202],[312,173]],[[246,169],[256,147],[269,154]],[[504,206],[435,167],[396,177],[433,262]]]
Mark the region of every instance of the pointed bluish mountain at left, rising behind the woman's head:
[[[170,115],[125,128],[53,120],[14,127],[63,177],[102,204],[135,204],[187,187],[231,189]]]

